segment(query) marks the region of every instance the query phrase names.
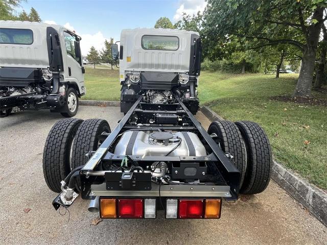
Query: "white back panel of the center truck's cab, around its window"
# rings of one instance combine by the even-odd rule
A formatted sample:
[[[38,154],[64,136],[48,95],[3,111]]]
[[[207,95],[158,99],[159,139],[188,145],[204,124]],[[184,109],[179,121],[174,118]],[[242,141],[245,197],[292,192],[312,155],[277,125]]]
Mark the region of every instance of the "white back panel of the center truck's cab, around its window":
[[[171,29],[123,30],[120,43],[123,46],[123,57],[120,60],[121,81],[125,79],[125,71],[188,72],[192,33]],[[146,50],[142,47],[144,35],[178,37],[178,49]]]

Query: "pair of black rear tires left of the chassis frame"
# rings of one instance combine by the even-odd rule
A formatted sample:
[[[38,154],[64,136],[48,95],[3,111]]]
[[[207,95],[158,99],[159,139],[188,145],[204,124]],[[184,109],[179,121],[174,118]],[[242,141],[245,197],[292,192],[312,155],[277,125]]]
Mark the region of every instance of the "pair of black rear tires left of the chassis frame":
[[[103,119],[66,118],[56,122],[46,138],[42,161],[44,179],[52,191],[59,193],[61,180],[87,162],[86,154],[98,149],[103,132],[111,132]]]

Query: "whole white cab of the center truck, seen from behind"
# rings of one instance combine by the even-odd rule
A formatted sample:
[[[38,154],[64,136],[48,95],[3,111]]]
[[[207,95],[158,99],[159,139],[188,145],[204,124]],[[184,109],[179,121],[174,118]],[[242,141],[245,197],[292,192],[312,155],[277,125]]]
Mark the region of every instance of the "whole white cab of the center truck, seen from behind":
[[[119,59],[121,112],[126,113],[147,90],[151,101],[165,104],[169,91],[177,93],[195,114],[199,108],[199,33],[172,29],[122,30],[120,46],[112,45]]]

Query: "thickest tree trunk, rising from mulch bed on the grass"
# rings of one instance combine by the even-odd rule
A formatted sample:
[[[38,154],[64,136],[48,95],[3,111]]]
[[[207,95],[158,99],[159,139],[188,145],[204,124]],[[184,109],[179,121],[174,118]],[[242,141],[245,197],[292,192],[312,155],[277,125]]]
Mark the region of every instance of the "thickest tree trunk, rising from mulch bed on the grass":
[[[313,80],[313,72],[315,69],[316,51],[313,47],[310,49],[305,47],[303,52],[300,75],[294,91],[295,97],[309,97],[311,95],[311,87]]]

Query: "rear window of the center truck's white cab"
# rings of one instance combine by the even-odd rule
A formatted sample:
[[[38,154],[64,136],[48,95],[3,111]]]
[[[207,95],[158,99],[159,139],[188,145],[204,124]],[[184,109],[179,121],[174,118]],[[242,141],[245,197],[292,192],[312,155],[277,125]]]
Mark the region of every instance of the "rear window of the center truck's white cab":
[[[145,50],[178,50],[179,39],[175,36],[144,35],[142,47]]]

